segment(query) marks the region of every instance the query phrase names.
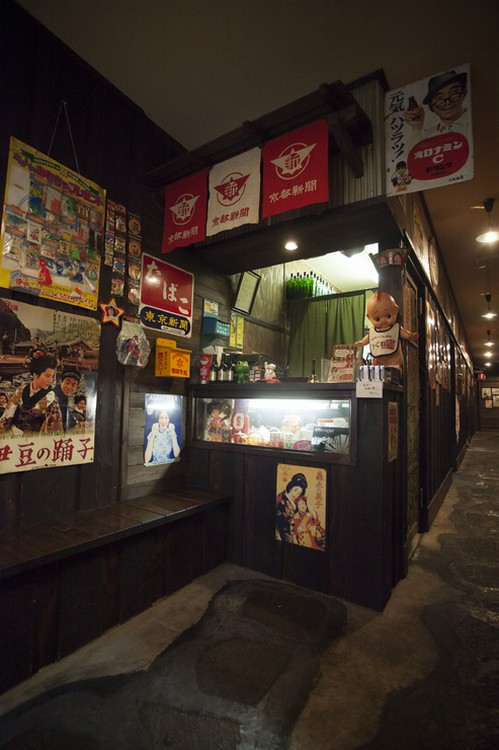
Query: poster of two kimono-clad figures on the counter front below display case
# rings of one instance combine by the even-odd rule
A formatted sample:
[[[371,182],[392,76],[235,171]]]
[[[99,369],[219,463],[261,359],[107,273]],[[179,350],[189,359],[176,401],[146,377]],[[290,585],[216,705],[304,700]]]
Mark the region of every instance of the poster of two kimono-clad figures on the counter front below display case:
[[[277,464],[275,538],[325,552],[327,472]]]

